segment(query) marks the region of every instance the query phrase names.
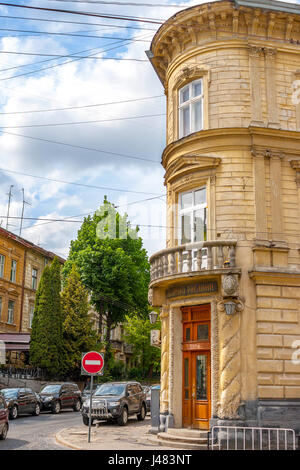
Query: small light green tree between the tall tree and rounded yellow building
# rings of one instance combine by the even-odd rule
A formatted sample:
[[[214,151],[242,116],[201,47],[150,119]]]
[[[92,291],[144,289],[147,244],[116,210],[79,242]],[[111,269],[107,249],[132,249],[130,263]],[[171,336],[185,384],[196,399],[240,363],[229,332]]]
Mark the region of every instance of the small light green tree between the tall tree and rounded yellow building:
[[[150,344],[150,331],[160,330],[160,321],[152,325],[149,318],[126,315],[124,339],[133,346],[133,360],[138,363],[144,377],[152,377],[160,371],[160,349]]]

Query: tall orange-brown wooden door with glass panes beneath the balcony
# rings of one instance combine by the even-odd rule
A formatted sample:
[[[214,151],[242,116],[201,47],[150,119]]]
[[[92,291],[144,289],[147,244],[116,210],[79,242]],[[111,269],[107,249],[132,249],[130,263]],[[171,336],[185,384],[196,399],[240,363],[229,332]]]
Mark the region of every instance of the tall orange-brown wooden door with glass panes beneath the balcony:
[[[205,308],[204,308],[205,307]],[[210,418],[210,309],[183,313],[183,427],[208,429]]]

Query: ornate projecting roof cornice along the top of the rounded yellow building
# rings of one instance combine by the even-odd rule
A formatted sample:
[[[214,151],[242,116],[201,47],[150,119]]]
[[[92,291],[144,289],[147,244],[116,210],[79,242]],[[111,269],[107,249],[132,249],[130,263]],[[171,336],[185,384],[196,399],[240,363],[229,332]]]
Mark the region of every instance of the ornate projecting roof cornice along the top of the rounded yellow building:
[[[176,58],[185,52],[207,48],[209,43],[231,39],[258,41],[261,47],[276,44],[278,49],[298,52],[300,15],[283,11],[240,6],[233,1],[218,1],[182,10],[169,18],[151,43],[151,63],[166,85],[166,74]]]

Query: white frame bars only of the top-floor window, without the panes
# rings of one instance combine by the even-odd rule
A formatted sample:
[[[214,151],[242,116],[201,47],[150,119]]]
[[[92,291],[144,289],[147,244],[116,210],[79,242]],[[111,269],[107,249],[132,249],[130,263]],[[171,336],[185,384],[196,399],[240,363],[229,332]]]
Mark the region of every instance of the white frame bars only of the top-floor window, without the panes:
[[[201,83],[201,94],[197,95],[195,97],[192,96],[192,90],[193,86],[196,83]],[[183,103],[180,103],[180,96],[181,93],[188,89],[189,90],[189,99]],[[179,139],[182,139],[183,137],[187,137],[190,134],[193,134],[194,132],[199,132],[204,129],[204,80],[203,77],[197,78],[195,80],[192,80],[191,82],[187,83],[186,85],[183,85],[178,89],[178,136]],[[201,125],[199,129],[194,128],[194,119],[193,119],[193,110],[194,110],[194,104],[201,102]],[[184,127],[183,127],[183,118],[182,118],[182,110],[184,108],[189,108],[189,132],[187,134],[184,134]]]

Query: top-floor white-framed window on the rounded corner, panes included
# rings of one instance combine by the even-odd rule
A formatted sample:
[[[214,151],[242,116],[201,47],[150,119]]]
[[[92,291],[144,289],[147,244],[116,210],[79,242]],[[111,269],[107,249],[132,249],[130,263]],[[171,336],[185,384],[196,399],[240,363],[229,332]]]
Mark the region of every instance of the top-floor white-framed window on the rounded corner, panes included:
[[[195,80],[179,90],[179,138],[203,129],[203,83]]]

